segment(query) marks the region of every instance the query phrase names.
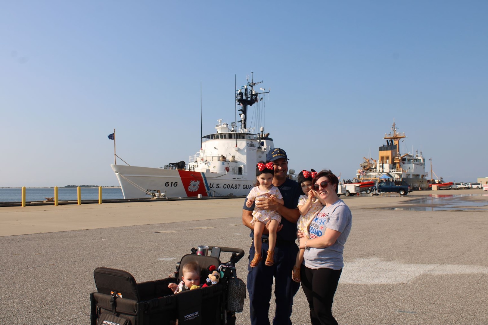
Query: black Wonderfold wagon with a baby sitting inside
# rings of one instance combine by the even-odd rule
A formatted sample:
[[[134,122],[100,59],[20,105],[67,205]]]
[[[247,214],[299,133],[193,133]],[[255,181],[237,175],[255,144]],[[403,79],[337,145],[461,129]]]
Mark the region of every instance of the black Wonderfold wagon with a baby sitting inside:
[[[245,299],[245,284],[235,268],[244,250],[218,246],[208,250],[209,256],[197,255],[192,248],[172,276],[142,283],[126,271],[97,267],[93,272],[97,292],[90,294],[91,325],[234,325]],[[221,252],[231,253],[228,262],[221,262]],[[211,265],[223,277],[217,284],[173,294],[168,284],[179,283],[183,265],[191,262],[202,267],[202,279]]]

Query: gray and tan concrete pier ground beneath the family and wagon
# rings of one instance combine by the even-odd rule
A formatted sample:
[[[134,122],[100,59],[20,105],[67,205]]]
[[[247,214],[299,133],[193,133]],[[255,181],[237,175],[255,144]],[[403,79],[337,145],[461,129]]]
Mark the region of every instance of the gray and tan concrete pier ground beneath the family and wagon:
[[[344,198],[353,227],[333,306],[339,324],[488,324],[488,195],[466,197],[478,210],[393,210],[430,194],[488,193]],[[126,270],[138,282],[162,279],[199,244],[243,248],[236,266],[245,281],[251,239],[242,204],[2,207],[0,324],[89,324],[97,266]],[[293,324],[310,324],[302,289],[293,309]],[[249,324],[247,300],[237,324]]]

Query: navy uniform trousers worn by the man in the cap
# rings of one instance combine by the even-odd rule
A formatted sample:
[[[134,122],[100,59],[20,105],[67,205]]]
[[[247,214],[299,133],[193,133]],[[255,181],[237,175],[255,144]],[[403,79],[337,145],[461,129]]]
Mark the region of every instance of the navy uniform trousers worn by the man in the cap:
[[[277,242],[274,254],[274,265],[264,264],[267,256],[268,243],[262,245],[263,260],[256,267],[247,266],[247,291],[252,325],[269,325],[269,302],[271,286],[275,277],[276,311],[274,325],[291,325],[290,315],[293,296],[300,284],[291,279],[291,271],[295,265],[298,246],[295,242]],[[249,249],[249,261],[254,258],[254,242]]]

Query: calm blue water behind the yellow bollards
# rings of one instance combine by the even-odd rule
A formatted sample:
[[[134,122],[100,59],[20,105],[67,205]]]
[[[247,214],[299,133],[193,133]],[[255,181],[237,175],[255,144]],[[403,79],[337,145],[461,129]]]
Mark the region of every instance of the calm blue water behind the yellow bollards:
[[[58,200],[76,201],[78,200],[77,188],[58,187]],[[45,198],[54,197],[54,188],[26,188],[25,201],[44,201]],[[122,189],[102,188],[102,199],[123,199]],[[98,187],[81,188],[81,200],[98,200]],[[20,202],[22,201],[21,188],[0,188],[0,202]]]

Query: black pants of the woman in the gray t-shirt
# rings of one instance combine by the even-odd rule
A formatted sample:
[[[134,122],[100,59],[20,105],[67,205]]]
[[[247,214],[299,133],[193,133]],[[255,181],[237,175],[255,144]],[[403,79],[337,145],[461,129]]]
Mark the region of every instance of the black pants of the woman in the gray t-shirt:
[[[332,316],[332,302],[341,277],[342,268],[312,269],[302,264],[302,288],[310,307],[310,322],[312,325],[337,325]]]

